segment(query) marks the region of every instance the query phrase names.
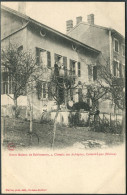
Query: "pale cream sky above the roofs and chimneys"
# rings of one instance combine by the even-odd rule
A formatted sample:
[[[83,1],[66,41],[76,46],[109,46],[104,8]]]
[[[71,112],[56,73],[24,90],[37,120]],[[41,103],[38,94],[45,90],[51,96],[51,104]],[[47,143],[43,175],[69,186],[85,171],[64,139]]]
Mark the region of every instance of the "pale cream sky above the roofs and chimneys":
[[[3,5],[18,9],[18,2],[2,2]],[[125,35],[125,3],[124,2],[27,2],[26,15],[66,33],[66,20],[82,16],[87,22],[87,15],[93,13],[95,24],[112,27]]]

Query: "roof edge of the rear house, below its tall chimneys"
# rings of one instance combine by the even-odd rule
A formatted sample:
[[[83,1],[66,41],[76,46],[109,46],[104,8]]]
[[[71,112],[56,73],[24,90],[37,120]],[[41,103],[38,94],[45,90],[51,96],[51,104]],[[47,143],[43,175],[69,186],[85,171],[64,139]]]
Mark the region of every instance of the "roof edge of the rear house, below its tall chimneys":
[[[109,28],[109,27],[104,27],[104,26],[100,26],[100,25],[96,25],[96,24],[89,24],[87,22],[80,22],[79,24],[75,25],[67,34],[69,34],[70,32],[72,32],[75,28],[77,28],[80,24],[84,24],[84,25],[88,25],[88,26],[93,26],[96,28],[100,28],[103,30],[108,30],[111,31],[112,33],[117,33],[119,36],[121,36],[123,39],[125,38],[123,35],[121,35],[118,31],[116,31],[113,28]]]

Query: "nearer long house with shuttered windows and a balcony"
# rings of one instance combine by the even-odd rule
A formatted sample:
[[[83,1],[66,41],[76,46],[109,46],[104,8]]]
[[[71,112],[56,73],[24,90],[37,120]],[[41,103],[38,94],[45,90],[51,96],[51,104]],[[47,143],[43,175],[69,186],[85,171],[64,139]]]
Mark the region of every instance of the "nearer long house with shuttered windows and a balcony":
[[[45,74],[42,87],[41,97],[35,93],[33,97],[34,118],[40,118],[43,107],[48,105],[48,109],[52,108],[54,100],[51,99],[48,92],[48,83],[54,69],[55,63],[59,63],[66,67],[67,72],[73,73],[76,82],[89,83],[91,75],[88,74],[89,65],[96,67],[96,59],[100,55],[100,51],[85,44],[78,37],[72,38],[62,34],[24,14],[24,4],[20,2],[19,11],[15,11],[5,6],[1,6],[1,45],[2,49],[8,45],[16,44],[20,50],[30,50],[37,59],[39,66],[46,66],[48,72]],[[95,69],[95,68],[94,68]],[[71,75],[72,75],[71,73]],[[92,74],[92,81],[97,78],[96,69]],[[7,94],[12,94],[11,84],[5,72],[2,72],[2,104],[12,104]],[[81,90],[76,88],[70,91],[69,98],[74,102],[80,101]],[[13,94],[12,94],[13,95]],[[27,97],[23,96],[19,99],[23,102]]]

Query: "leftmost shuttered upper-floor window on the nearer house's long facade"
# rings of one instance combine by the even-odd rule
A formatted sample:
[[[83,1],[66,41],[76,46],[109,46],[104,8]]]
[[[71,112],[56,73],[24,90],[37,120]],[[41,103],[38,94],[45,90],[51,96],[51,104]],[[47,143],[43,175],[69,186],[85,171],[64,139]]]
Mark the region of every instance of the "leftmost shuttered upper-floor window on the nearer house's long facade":
[[[51,53],[49,51],[36,48],[36,63],[43,67],[51,68]]]

